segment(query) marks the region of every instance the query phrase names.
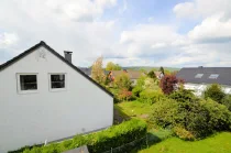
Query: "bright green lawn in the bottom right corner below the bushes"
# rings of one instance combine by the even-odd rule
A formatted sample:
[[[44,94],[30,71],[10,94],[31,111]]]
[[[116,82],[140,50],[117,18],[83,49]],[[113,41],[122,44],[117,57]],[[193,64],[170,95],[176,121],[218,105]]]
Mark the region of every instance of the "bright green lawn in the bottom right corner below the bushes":
[[[169,138],[139,153],[231,153],[231,133],[222,132],[195,142]]]

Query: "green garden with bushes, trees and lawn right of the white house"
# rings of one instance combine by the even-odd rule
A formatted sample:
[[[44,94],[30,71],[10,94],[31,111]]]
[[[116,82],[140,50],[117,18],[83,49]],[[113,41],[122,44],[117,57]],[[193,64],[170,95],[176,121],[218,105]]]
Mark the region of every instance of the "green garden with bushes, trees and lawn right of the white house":
[[[125,85],[132,94],[118,91],[114,108],[125,119],[147,123],[148,139],[141,153],[231,152],[231,96],[219,85],[209,86],[202,97],[184,89],[184,80],[174,74],[161,80],[147,74],[135,86]]]

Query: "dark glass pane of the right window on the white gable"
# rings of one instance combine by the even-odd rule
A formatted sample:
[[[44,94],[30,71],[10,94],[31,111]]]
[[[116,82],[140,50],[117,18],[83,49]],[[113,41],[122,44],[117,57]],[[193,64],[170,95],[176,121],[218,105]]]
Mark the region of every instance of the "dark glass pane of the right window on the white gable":
[[[65,75],[51,75],[52,88],[65,88]]]

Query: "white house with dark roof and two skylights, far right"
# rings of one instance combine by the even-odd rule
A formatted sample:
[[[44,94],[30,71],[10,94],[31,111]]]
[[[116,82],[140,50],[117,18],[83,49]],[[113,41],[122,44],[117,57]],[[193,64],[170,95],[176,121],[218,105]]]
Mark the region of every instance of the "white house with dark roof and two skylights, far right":
[[[185,88],[201,96],[208,85],[219,84],[226,94],[231,94],[231,67],[182,68],[176,77],[185,80]]]

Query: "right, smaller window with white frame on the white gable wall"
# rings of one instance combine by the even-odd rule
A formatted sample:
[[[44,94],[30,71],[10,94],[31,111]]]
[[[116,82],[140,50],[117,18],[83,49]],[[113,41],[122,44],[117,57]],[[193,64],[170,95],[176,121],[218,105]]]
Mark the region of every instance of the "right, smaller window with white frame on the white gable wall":
[[[66,74],[50,74],[50,90],[66,90]]]

